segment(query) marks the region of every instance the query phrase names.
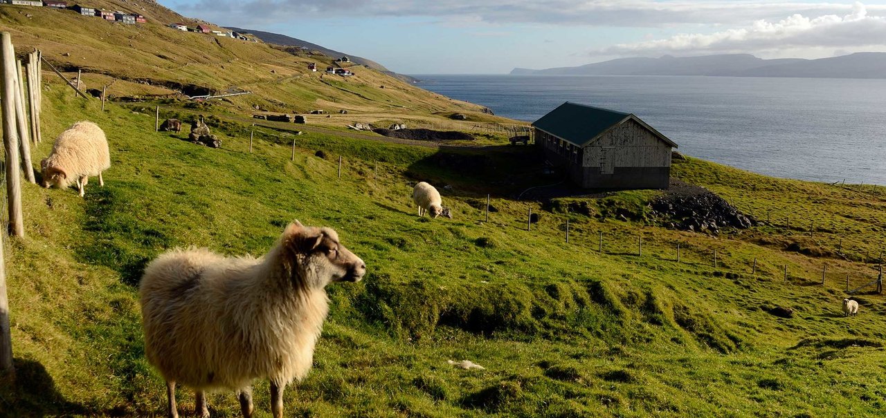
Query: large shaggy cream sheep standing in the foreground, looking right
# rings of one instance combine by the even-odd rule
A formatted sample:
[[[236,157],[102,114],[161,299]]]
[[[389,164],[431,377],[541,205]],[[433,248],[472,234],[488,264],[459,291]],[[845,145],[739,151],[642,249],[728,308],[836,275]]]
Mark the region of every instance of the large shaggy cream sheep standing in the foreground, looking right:
[[[366,264],[330,228],[289,224],[267,255],[224,257],[176,249],[144,269],[139,285],[144,352],[167,381],[168,414],[177,417],[175,384],[196,392],[208,416],[207,390],[239,391],[253,414],[252,383],[270,380],[271,411],[283,416],[283,391],[307,375],[329,311],[324,287],[360,281]]]

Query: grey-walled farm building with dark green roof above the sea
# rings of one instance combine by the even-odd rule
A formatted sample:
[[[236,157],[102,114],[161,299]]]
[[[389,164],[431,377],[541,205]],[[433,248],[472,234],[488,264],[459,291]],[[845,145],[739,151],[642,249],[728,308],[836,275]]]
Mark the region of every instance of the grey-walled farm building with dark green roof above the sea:
[[[667,188],[677,144],[631,113],[563,103],[532,124],[548,162],[578,186]]]

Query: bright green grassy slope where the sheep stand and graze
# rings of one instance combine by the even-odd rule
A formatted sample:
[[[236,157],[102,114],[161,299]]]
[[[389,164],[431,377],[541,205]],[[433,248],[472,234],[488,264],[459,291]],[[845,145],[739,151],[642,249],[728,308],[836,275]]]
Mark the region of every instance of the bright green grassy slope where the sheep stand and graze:
[[[249,154],[252,128],[229,118],[211,119],[223,147],[210,149],[154,133],[150,113],[116,104],[102,113],[58,82],[45,95],[47,141],[35,162],[67,125],[89,119],[105,129],[113,167],[83,199],[24,186],[27,238],[6,242],[18,379],[0,388],[5,415],[164,414],[165,386],[140,330],[144,264],[173,247],[260,255],[292,219],[335,228],[369,273],[328,289],[314,369],[286,391],[287,416],[873,416],[886,407],[882,296],[856,296],[857,317],[840,311],[846,274],[853,284],[876,274],[861,254],[884,244],[882,187],[771,179],[690,158],[675,164],[677,177],[772,219],[744,232],[675,232],[649,217],[654,192],[509,198],[514,186],[494,167],[521,166],[529,150],[447,151],[308,126],[300,136],[256,128]],[[455,169],[439,163],[444,154],[491,163]],[[416,217],[416,179],[441,186],[454,219]],[[529,232],[527,207],[540,214]],[[258,416],[269,416],[266,382],[255,396]],[[183,412],[193,407],[190,391],[178,397]],[[214,416],[237,416],[232,394],[209,400]]]

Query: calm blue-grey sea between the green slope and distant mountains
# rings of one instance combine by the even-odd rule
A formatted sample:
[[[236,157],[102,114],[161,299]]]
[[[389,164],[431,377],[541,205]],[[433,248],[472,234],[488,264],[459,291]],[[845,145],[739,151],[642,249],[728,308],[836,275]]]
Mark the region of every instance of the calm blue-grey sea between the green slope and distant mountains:
[[[637,115],[689,156],[770,176],[886,185],[886,80],[416,75],[534,121],[570,101]]]

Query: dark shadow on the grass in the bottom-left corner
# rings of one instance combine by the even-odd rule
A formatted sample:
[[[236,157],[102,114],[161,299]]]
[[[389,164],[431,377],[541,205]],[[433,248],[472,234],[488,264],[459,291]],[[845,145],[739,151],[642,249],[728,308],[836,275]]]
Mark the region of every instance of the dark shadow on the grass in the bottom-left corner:
[[[0,415],[71,416],[95,415],[58,392],[52,376],[39,361],[13,359],[15,378],[0,380]]]

